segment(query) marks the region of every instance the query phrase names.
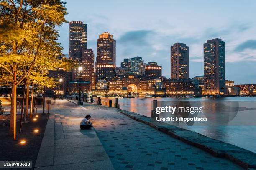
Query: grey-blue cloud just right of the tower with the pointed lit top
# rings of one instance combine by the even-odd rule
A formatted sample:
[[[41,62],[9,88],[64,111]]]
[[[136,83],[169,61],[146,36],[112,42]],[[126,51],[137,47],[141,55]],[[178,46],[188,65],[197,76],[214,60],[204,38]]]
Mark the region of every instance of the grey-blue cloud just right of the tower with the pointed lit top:
[[[118,43],[127,43],[130,45],[149,45],[147,39],[153,33],[151,30],[128,31],[121,35],[117,41]]]

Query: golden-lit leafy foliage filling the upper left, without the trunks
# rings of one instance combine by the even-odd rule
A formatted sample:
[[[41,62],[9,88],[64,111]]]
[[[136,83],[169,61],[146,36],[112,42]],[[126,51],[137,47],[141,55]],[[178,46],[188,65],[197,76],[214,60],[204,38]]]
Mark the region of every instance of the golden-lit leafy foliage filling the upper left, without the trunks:
[[[37,85],[54,86],[48,70],[74,67],[60,59],[62,47],[56,26],[67,22],[61,0],[0,0],[0,85],[17,85],[26,78]]]

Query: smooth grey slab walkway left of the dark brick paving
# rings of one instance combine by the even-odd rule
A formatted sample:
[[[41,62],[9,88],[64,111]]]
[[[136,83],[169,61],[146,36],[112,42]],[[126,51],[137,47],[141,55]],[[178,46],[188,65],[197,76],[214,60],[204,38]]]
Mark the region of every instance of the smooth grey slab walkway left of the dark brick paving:
[[[101,170],[104,167],[105,170],[113,170],[95,130],[80,130],[84,116],[75,114],[84,115],[84,108],[65,100],[57,101],[52,105],[51,112],[55,114],[50,114],[35,169]]]

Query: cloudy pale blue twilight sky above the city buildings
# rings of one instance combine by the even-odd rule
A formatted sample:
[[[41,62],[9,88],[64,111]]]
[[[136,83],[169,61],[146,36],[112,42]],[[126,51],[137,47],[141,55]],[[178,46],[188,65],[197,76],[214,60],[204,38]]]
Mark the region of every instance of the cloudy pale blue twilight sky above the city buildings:
[[[189,46],[189,77],[203,75],[203,43],[225,41],[226,79],[256,83],[255,0],[66,0],[66,20],[88,24],[88,48],[97,56],[97,39],[105,31],[116,40],[116,64],[140,56],[157,62],[170,77],[170,46]],[[69,24],[58,28],[68,53]]]

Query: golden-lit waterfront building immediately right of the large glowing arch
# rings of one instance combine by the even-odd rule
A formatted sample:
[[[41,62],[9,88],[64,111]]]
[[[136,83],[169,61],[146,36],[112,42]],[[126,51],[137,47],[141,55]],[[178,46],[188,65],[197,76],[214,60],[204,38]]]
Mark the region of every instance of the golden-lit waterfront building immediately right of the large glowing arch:
[[[163,88],[161,79],[151,79],[141,81],[140,93],[143,95],[165,95],[166,90]]]

